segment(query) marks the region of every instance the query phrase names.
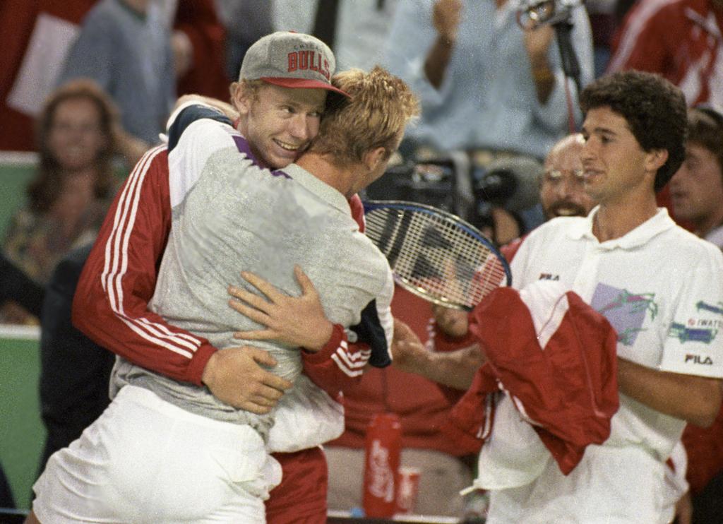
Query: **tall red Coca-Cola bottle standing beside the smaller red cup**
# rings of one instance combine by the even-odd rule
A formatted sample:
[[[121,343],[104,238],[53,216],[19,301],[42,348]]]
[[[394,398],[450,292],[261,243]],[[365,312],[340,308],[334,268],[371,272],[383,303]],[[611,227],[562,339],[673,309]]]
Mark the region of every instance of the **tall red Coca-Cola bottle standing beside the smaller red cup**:
[[[395,510],[402,426],[394,413],[379,413],[367,428],[364,446],[364,496],[367,517],[391,517]]]

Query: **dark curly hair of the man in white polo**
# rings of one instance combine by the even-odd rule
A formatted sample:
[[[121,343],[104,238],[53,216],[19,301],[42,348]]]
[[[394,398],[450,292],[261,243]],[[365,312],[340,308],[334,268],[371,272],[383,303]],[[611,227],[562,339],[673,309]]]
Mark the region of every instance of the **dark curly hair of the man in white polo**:
[[[685,160],[683,93],[658,74],[617,72],[595,80],[580,95],[583,113],[603,106],[623,116],[644,151],[667,150],[668,159],[655,176],[655,191],[662,189]]]

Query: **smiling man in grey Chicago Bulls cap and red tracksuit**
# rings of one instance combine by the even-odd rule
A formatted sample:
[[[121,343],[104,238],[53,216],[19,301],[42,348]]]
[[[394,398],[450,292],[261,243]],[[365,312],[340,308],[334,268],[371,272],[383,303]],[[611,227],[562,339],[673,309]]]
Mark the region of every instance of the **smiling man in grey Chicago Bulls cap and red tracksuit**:
[[[281,168],[309,145],[319,130],[325,95],[328,91],[341,93],[330,83],[333,69],[333,54],[309,35],[274,33],[249,49],[239,82],[231,86],[231,95],[239,112],[236,129],[259,164]],[[197,108],[184,111],[175,124],[182,126],[185,118],[196,118],[194,111]],[[237,137],[228,134],[226,139],[229,146],[235,147]],[[173,141],[171,133],[169,147],[177,145]],[[205,385],[216,398],[234,408],[268,413],[291,387],[291,383],[260,366],[275,365],[268,353],[249,347],[218,352],[205,338],[174,327],[147,309],[171,220],[174,194],[168,187],[168,170],[166,147],[150,150],[119,193],[85,266],[76,293],[74,323],[132,364],[179,382]],[[305,348],[321,350],[304,352],[304,369],[325,369],[338,379],[344,373],[333,369],[336,361],[330,356],[343,349],[354,360],[356,356],[351,353],[355,350],[346,346],[343,330],[327,327],[318,331],[315,343],[304,343]],[[215,373],[205,372],[211,368]],[[315,374],[315,380],[318,377]],[[275,456],[283,466],[284,484],[274,491],[270,502],[287,480],[306,478],[307,488],[309,482],[316,483],[312,490],[299,491],[298,486],[291,486],[284,491],[279,506],[297,510],[299,518],[316,519],[309,522],[322,522],[326,478],[320,450],[314,447]],[[293,471],[287,471],[287,464],[294,465]],[[316,497],[319,504],[309,498],[315,497],[315,492],[320,494]],[[269,521],[283,520],[269,517]]]

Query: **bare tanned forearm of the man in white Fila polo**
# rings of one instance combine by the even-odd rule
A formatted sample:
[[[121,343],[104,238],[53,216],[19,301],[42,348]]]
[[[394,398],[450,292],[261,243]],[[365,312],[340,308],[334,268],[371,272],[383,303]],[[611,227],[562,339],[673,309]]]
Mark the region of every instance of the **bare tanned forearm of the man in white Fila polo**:
[[[721,381],[666,371],[617,359],[620,392],[669,416],[707,427],[719,412]]]

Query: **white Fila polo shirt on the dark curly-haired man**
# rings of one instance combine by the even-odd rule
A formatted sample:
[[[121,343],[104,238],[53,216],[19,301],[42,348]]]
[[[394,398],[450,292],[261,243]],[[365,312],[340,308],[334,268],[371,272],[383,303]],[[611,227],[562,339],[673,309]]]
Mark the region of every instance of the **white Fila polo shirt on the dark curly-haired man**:
[[[723,377],[720,250],[676,226],[665,209],[601,243],[592,234],[595,213],[556,218],[533,231],[512,262],[515,288],[559,281],[615,327],[622,358],[660,371]],[[609,443],[642,444],[665,460],[684,426],[623,396]]]

